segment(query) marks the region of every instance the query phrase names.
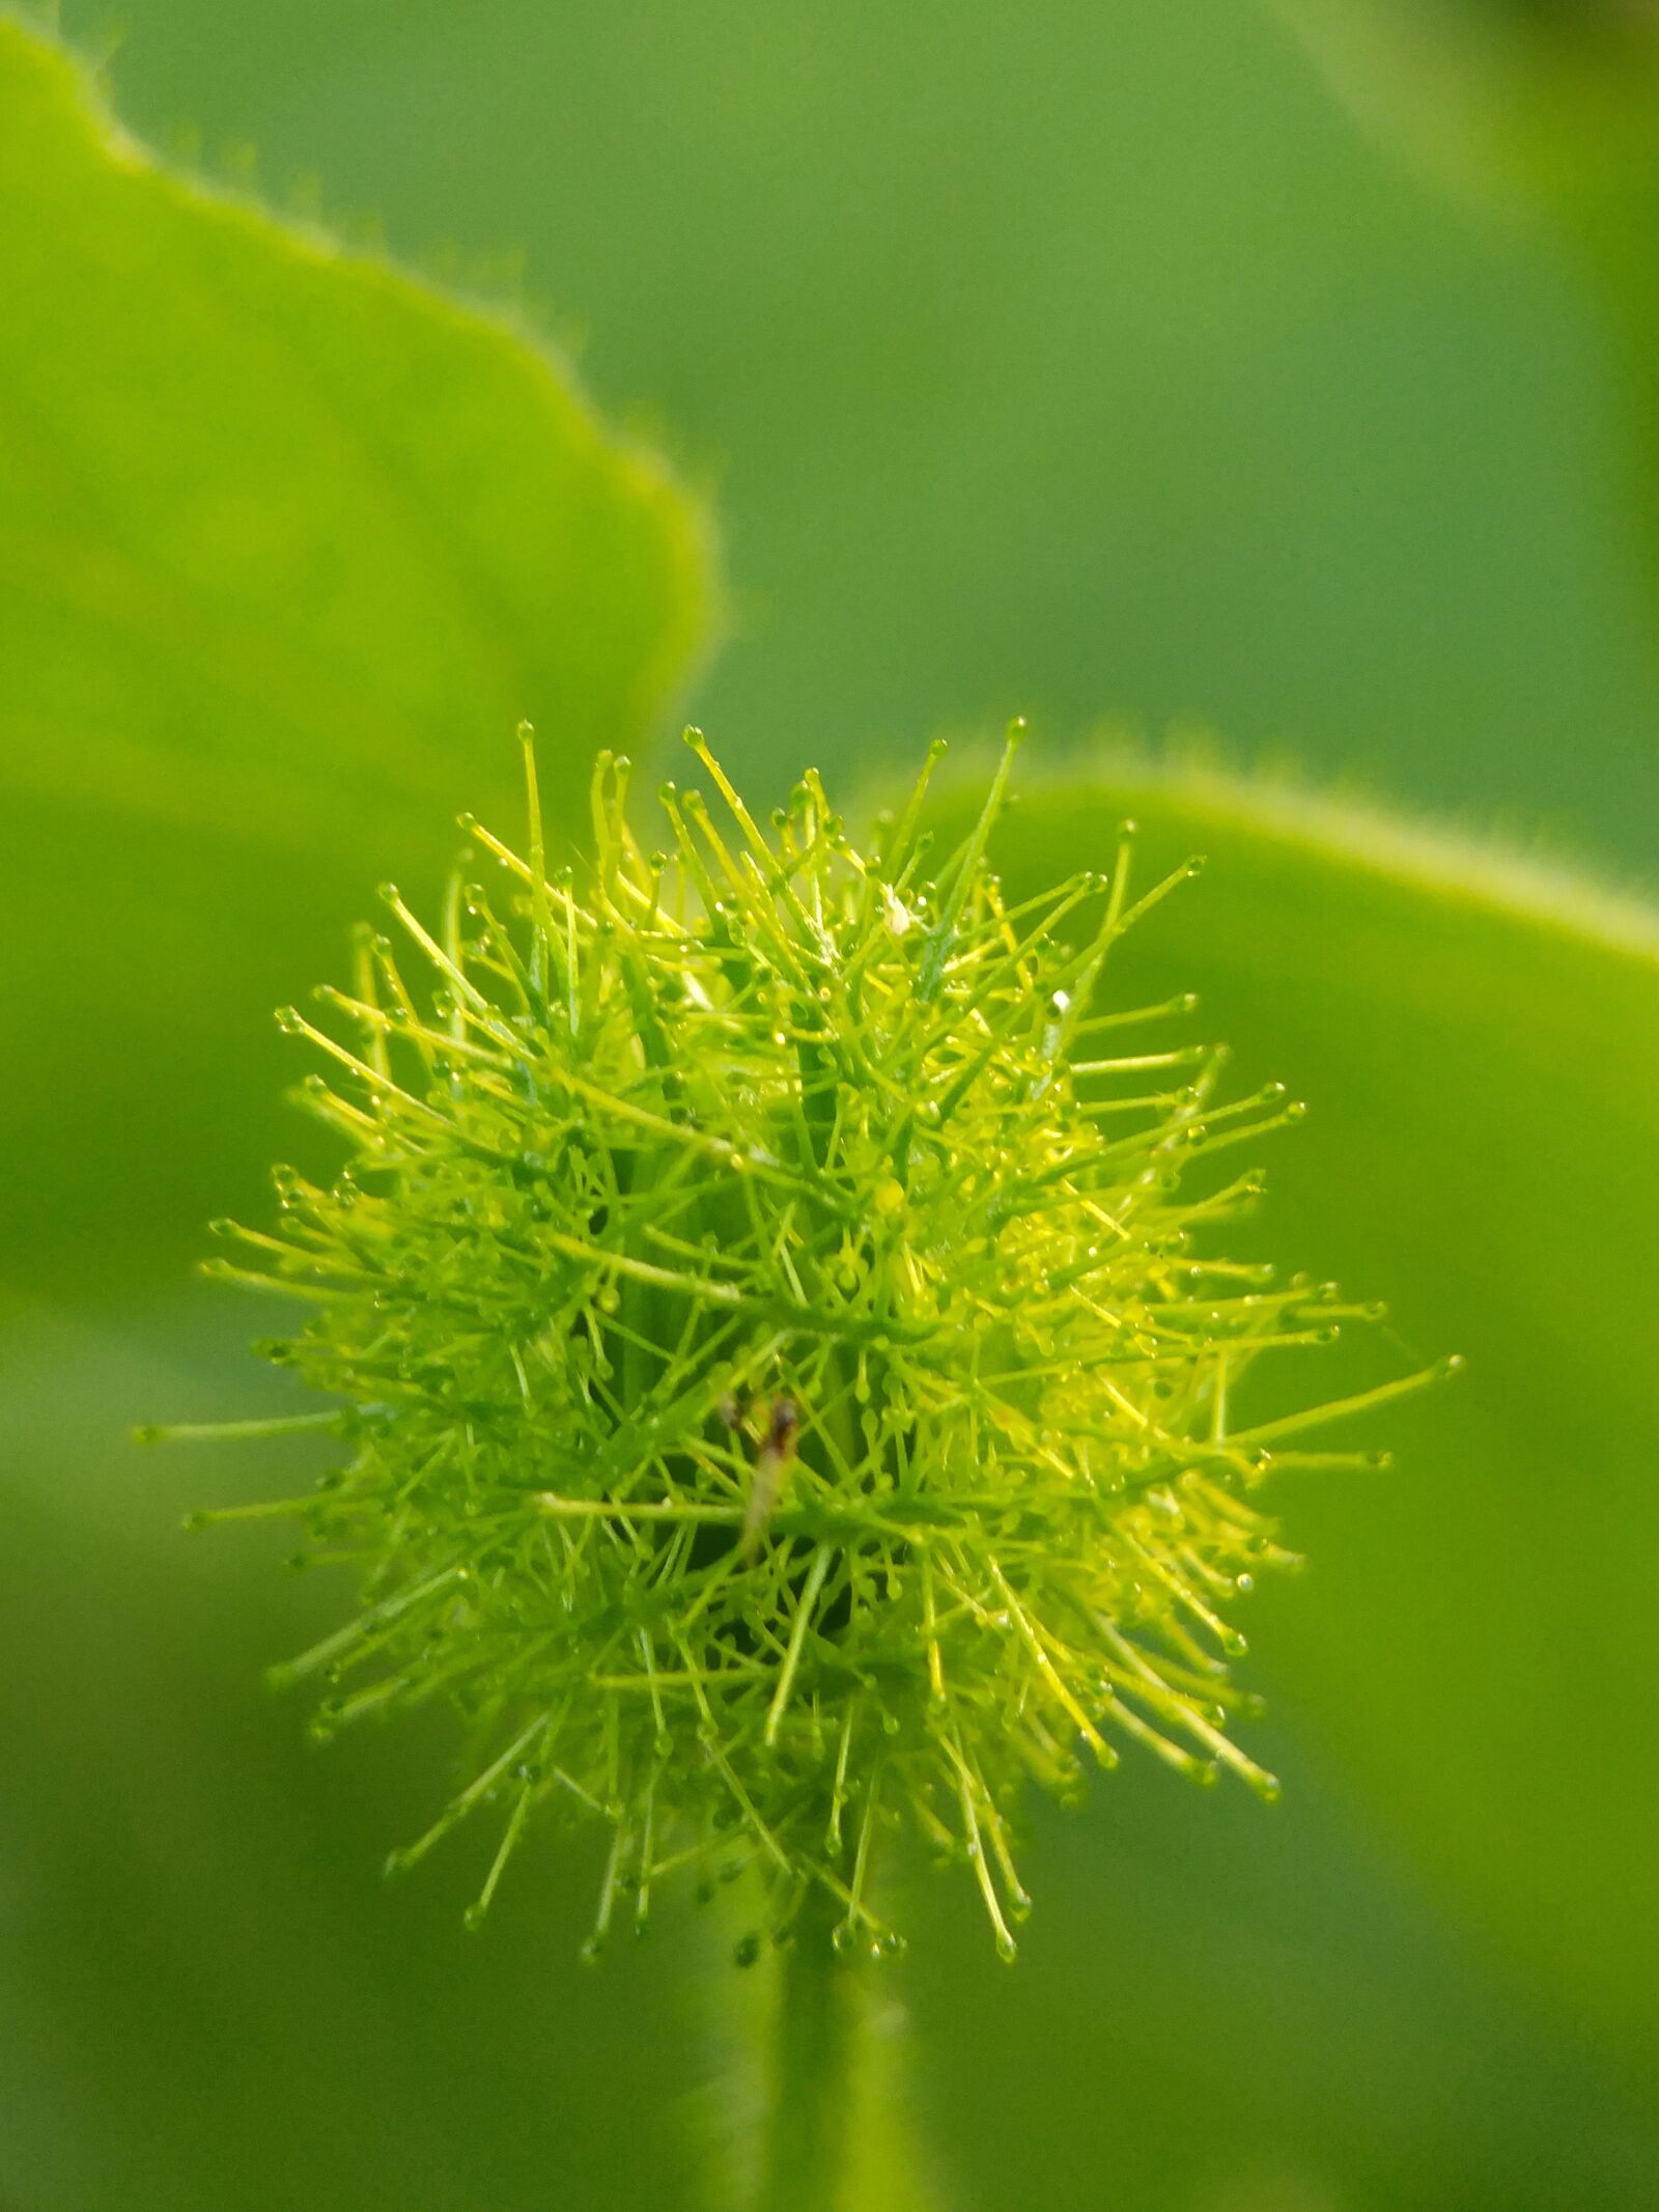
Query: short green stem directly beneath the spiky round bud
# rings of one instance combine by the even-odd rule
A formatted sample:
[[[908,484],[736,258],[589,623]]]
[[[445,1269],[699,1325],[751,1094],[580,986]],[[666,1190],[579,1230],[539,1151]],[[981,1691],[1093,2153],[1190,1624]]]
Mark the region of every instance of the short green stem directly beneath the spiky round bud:
[[[810,1907],[781,1958],[757,2212],[845,2203],[863,1991],[858,1964],[830,1931],[832,1913]]]

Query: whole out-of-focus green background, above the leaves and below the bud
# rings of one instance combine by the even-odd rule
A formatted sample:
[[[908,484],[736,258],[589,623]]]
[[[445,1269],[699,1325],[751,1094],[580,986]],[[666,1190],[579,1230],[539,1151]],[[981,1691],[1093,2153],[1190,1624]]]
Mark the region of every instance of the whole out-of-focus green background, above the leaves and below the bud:
[[[690,708],[763,792],[805,759],[854,785],[1011,710],[1057,752],[1102,721],[1201,728],[1652,883],[1641,314],[1548,186],[1436,164],[1455,102],[1407,131],[1409,86],[1345,97],[1363,40],[1316,58],[1248,0],[62,13],[93,44],[119,27],[137,133],[208,173],[252,150],[274,201],[321,190],[405,259],[515,290],[714,489],[732,635]],[[380,1889],[425,1747],[301,1745],[257,1672],[330,1593],[272,1575],[281,1542],[181,1562],[204,1462],[135,1471],[119,1440],[223,1411],[226,1374],[268,1387],[234,1307],[190,1316],[13,1334],[15,1433],[60,1502],[24,1502],[9,1601],[31,1816],[15,1882],[0,1863],[0,1931],[29,1898],[0,2194],[690,2203],[723,1958],[679,1927],[580,1973],[580,1851],[531,1854],[482,1936],[465,1867]],[[1013,1975],[967,1885],[918,1893],[902,1991],[947,2201],[1652,2205],[1652,2051],[1347,1787],[1340,1730],[1274,1681],[1283,1601],[1252,1661],[1276,1812],[1126,1765],[1084,1816],[1040,1816]]]

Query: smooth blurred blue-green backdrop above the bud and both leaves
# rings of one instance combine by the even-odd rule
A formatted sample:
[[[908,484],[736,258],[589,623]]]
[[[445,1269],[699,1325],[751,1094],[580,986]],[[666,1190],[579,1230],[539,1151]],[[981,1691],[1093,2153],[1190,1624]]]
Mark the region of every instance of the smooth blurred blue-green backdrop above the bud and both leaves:
[[[124,24],[155,144],[487,290],[518,259],[717,491],[734,637],[695,710],[748,776],[1009,712],[1199,723],[1648,860],[1619,361],[1575,268],[1409,175],[1272,9],[64,20]]]

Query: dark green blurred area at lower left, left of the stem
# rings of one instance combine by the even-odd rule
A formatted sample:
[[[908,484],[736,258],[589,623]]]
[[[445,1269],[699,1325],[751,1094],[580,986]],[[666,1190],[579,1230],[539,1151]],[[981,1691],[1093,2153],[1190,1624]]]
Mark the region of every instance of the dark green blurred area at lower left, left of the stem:
[[[204,1484],[305,1480],[312,1462],[133,1449],[135,1407],[268,1391],[241,1352],[248,1323],[206,1285],[173,1325],[153,1314],[126,1334],[4,1312],[7,1526],[29,1588],[0,1632],[0,1993],[15,2028],[0,2201],[529,2212],[584,2168],[606,2174],[606,2208],[688,2201],[679,2099],[701,2022],[675,1997],[686,1931],[588,1973],[597,1867],[580,1851],[557,1882],[531,1863],[489,1942],[460,1924],[460,1863],[383,1885],[449,1730],[372,1730],[354,1759],[307,1745],[303,1712],[259,1670],[336,1613],[338,1584],[283,1575],[281,1540],[179,1533]]]

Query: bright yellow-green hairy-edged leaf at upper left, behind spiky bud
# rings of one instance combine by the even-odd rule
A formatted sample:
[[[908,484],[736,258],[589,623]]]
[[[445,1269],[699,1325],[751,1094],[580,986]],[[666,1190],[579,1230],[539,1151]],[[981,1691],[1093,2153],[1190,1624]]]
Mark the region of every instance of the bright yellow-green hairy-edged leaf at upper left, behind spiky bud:
[[[710,557],[524,332],[170,175],[11,18],[0,113],[4,1265],[86,1281],[246,1197],[270,1006],[504,803],[518,717],[584,807]]]

